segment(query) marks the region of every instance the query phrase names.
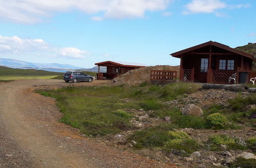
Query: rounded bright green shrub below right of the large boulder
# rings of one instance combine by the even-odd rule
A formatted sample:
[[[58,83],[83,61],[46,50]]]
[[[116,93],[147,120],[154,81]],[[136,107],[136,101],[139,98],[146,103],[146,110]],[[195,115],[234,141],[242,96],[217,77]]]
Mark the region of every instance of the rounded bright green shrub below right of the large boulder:
[[[225,116],[219,113],[210,114],[206,118],[208,126],[220,126],[224,127],[228,125],[228,120]]]

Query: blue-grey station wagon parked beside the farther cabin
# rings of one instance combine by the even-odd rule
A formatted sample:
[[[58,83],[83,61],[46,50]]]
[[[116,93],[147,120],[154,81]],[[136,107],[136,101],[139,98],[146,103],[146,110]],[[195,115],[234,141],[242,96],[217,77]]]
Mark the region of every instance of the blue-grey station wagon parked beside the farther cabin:
[[[69,81],[73,81],[73,82],[89,81],[89,82],[92,82],[93,77],[91,75],[88,75],[88,74],[82,72],[82,71],[67,71],[63,75],[63,80],[65,80],[66,82],[69,82]]]

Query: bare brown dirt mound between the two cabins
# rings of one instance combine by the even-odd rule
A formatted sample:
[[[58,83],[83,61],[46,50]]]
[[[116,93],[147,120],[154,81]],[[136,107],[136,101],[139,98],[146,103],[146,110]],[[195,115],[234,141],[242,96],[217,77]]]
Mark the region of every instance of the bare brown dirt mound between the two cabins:
[[[180,66],[157,65],[131,70],[114,78],[111,83],[112,85],[136,85],[144,81],[150,81],[151,70],[177,71],[177,76],[180,75]]]

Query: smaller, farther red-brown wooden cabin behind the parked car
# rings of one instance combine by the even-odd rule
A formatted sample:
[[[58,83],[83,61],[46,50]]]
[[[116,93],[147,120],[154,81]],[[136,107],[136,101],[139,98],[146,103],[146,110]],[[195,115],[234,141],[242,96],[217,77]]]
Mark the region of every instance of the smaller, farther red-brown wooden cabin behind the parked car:
[[[95,63],[98,65],[98,79],[113,79],[118,75],[124,74],[128,71],[131,71],[136,68],[145,67],[144,64],[138,63],[126,63],[126,62],[113,62],[113,61],[105,61],[101,63]],[[100,73],[100,66],[106,67],[106,73]]]

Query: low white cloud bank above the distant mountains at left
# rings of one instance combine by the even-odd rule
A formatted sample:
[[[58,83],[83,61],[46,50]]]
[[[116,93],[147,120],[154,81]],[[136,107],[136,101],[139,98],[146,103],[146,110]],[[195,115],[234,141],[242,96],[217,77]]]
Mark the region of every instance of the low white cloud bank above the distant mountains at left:
[[[57,48],[47,44],[42,39],[25,39],[17,36],[0,36],[0,54],[31,55],[36,57],[82,59],[89,52],[75,47]]]

